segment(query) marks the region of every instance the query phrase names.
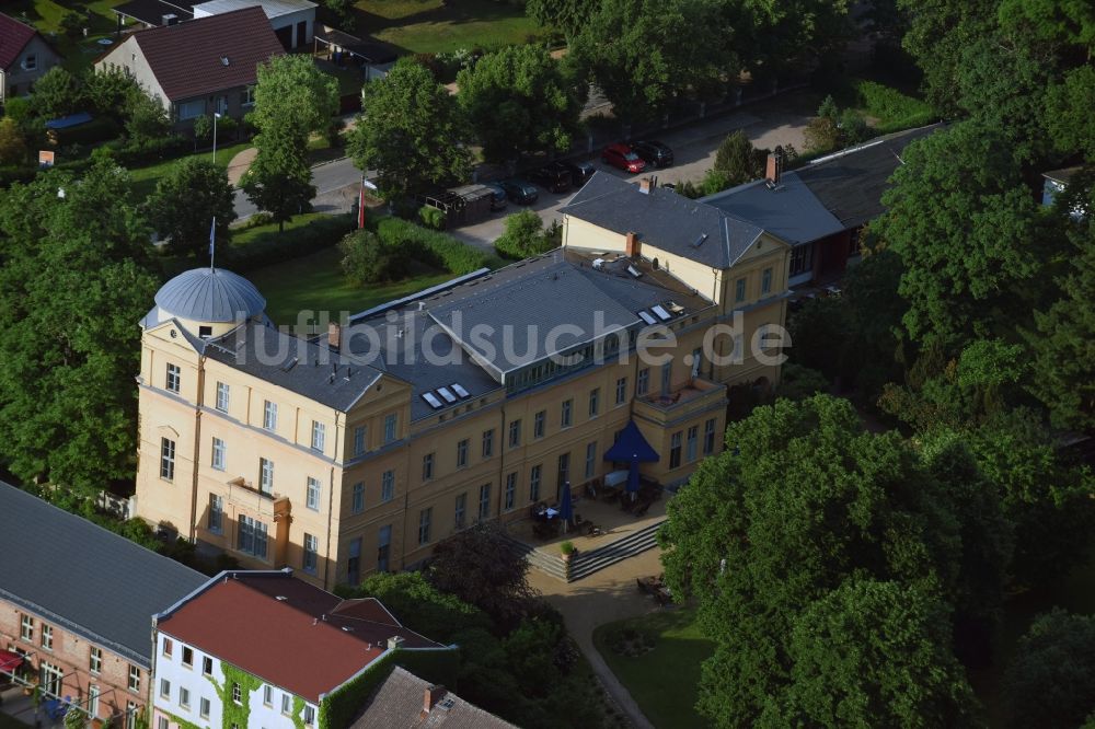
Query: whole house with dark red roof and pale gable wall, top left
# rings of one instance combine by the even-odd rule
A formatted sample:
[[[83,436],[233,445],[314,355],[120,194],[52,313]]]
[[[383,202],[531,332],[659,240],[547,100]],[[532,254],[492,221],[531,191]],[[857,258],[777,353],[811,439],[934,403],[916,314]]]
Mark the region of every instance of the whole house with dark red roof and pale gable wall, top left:
[[[182,129],[215,112],[242,118],[254,104],[258,65],[284,53],[262,8],[251,7],[136,31],[95,68],[125,69]]]

